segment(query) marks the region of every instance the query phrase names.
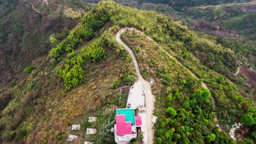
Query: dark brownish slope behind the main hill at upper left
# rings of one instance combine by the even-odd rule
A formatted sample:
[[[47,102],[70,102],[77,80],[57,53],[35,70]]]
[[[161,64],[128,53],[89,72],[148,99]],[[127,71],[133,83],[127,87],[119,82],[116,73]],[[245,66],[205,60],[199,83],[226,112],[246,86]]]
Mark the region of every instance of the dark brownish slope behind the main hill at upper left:
[[[86,4],[80,7],[79,2],[1,1],[0,86],[24,78],[25,67],[39,64],[36,59],[50,50],[50,35],[61,40],[77,25],[79,17],[67,13],[71,4],[71,11],[80,11],[80,17],[89,8]]]

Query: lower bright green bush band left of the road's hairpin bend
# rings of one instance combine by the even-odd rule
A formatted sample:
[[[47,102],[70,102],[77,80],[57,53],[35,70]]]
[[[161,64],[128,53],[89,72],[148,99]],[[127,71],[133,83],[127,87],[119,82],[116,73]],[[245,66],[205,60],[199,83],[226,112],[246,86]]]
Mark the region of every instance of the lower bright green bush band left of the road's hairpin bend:
[[[83,47],[79,53],[68,53],[65,69],[59,70],[59,76],[64,80],[67,90],[70,90],[72,87],[77,87],[79,83],[86,80],[82,68],[86,60],[92,59],[92,61],[98,62],[106,57],[107,53],[103,47],[107,48],[113,46],[113,40],[108,39],[111,39],[111,37],[104,34],[89,46]]]

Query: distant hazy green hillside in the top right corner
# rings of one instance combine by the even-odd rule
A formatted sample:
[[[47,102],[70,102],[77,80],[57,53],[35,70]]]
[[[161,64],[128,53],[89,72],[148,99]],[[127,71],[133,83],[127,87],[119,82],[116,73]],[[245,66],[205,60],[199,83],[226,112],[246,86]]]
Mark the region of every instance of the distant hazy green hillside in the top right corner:
[[[208,22],[213,22],[210,25],[229,28],[242,35],[246,35],[248,39],[255,40],[255,33],[253,32],[255,32],[256,27],[252,21],[255,16],[254,5],[254,2],[245,2],[209,7],[191,7],[182,11],[195,20],[205,19]],[[207,22],[203,23],[206,24]]]

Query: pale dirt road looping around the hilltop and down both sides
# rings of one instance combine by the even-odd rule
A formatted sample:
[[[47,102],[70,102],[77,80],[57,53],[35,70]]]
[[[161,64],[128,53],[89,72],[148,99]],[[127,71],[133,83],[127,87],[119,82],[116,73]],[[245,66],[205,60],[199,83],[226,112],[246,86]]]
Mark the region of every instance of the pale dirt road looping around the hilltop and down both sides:
[[[142,31],[139,31],[138,29],[132,28],[132,27],[121,28],[120,31],[119,31],[119,32],[117,33],[117,35],[115,36],[115,39],[117,40],[117,42],[118,42],[119,44],[121,44],[121,45],[130,53],[130,55],[131,55],[131,57],[132,57],[132,61],[133,61],[133,63],[135,64],[136,73],[137,73],[137,75],[138,75],[138,81],[141,81],[141,82],[144,84],[144,88],[145,88],[145,90],[146,90],[146,92],[147,92],[147,94],[148,94],[148,95],[147,95],[148,97],[146,97],[147,119],[150,119],[150,120],[147,120],[148,125],[150,126],[150,127],[147,129],[148,132],[150,131],[150,133],[148,133],[148,142],[149,142],[149,143],[153,143],[153,140],[152,140],[152,139],[153,139],[152,119],[153,119],[154,99],[155,99],[155,98],[154,98],[154,95],[152,95],[152,91],[151,91],[149,82],[147,82],[147,81],[145,81],[145,80],[143,79],[143,77],[142,77],[142,75],[141,75],[141,72],[139,71],[138,62],[137,62],[137,59],[136,59],[134,53],[132,52],[132,50],[130,49],[130,47],[127,46],[127,45],[120,39],[120,35],[121,35],[123,32],[125,32],[126,30],[138,32],[139,34],[142,34],[142,35],[146,36],[147,39],[149,39],[149,40],[151,40],[151,41],[154,41],[154,40],[153,40],[151,37],[149,37],[148,35],[146,35],[145,33],[143,33]],[[158,45],[158,43],[156,43],[156,41],[154,41],[154,43]],[[168,55],[170,58],[173,57],[173,56],[171,56],[170,53],[167,52],[165,49],[162,49],[162,50],[165,51],[165,52],[167,53],[167,55]],[[176,60],[176,61],[177,61],[177,60]],[[189,73],[190,73],[193,77],[195,77],[195,79],[197,79],[197,80],[199,79],[199,78],[198,78],[195,74],[193,74],[189,69],[187,69],[186,67],[184,67],[184,65],[183,65],[182,63],[180,63],[180,62],[178,62],[178,61],[177,61],[177,63],[178,63],[179,65],[181,65],[184,69],[188,70]],[[209,90],[209,88],[207,87],[207,85],[206,85],[204,82],[202,82],[202,87],[205,87],[206,89]],[[209,91],[210,91],[210,90],[209,90]],[[211,95],[211,100],[212,100],[212,103],[215,104],[215,101],[214,101],[212,95]],[[215,118],[213,118],[213,121],[214,121],[214,122],[217,122],[218,119],[215,117]],[[218,123],[216,124],[216,127],[218,127],[220,130],[222,130],[222,128],[220,128],[220,126],[219,126]],[[222,131],[223,131],[223,130],[222,130]],[[150,141],[149,141],[149,140],[150,140]]]

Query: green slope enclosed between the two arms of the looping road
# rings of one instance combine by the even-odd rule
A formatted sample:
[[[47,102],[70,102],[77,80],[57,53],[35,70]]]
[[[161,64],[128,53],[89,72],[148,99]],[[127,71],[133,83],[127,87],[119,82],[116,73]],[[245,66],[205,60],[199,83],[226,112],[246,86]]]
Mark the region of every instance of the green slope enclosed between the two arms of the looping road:
[[[133,51],[140,51],[136,58],[141,71],[145,71],[142,75],[150,71],[148,78],[155,80],[156,142],[232,143],[231,138],[214,124],[216,108],[211,93],[202,88],[176,59],[168,57],[161,46],[138,34],[134,38],[135,34],[126,32],[121,36]],[[139,47],[141,43],[147,45]]]

